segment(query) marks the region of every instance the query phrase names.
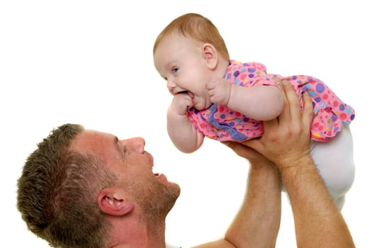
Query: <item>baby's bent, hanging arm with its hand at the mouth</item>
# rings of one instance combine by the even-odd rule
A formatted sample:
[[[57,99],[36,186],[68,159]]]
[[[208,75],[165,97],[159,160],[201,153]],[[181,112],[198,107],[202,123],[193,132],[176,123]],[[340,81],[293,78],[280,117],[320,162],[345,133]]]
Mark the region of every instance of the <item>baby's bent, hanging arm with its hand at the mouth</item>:
[[[188,120],[186,111],[193,106],[187,94],[176,94],[167,112],[167,130],[173,144],[181,152],[191,153],[203,144],[204,136]]]

